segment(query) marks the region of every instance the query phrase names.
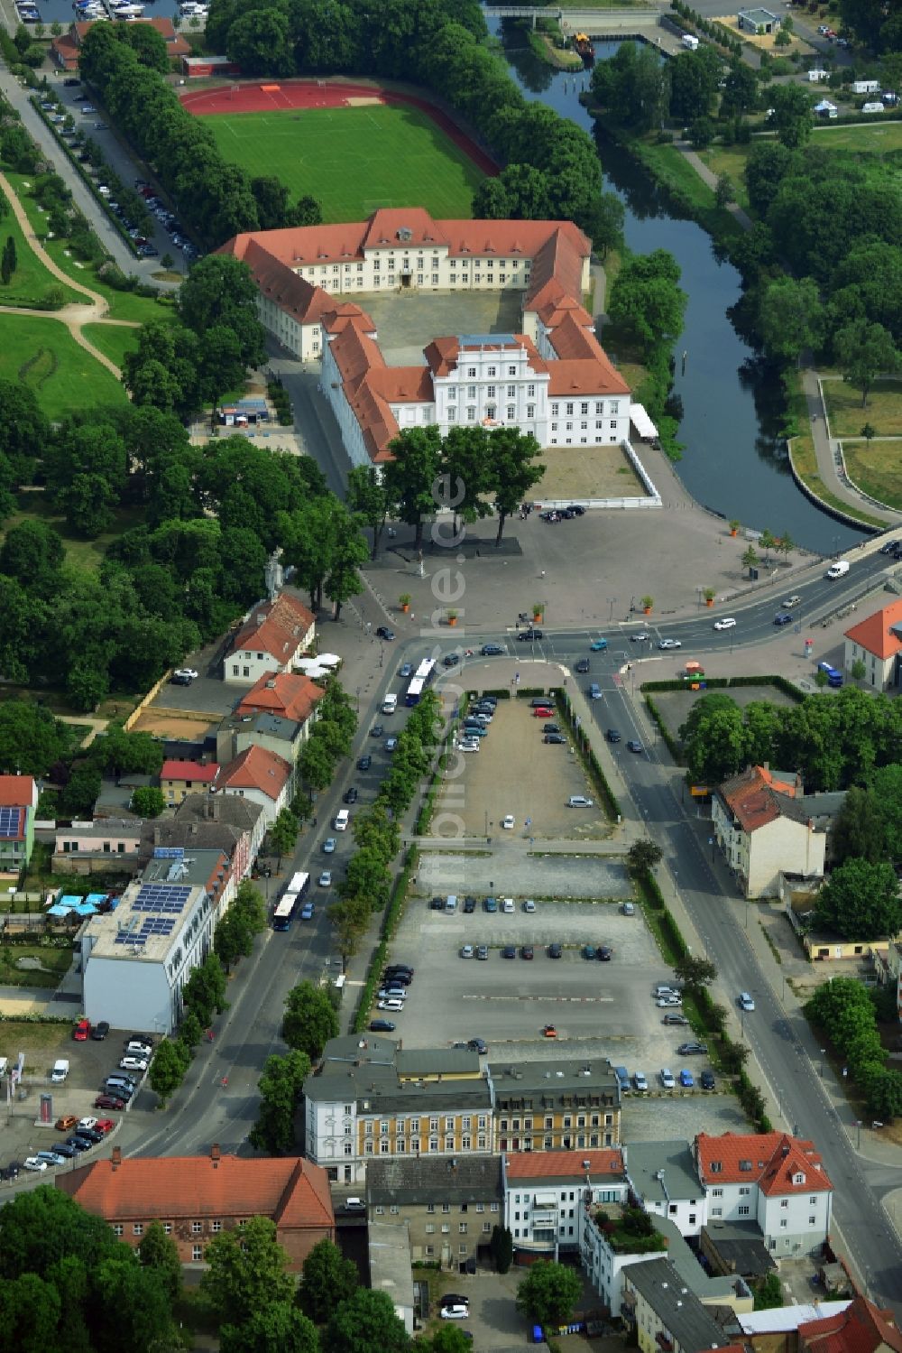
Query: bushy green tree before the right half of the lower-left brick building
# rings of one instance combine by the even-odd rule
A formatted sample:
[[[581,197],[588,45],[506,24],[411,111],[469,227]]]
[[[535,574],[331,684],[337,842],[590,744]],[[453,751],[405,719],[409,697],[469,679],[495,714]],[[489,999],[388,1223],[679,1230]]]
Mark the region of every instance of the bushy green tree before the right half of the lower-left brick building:
[[[285,1272],[288,1256],[268,1216],[252,1216],[241,1229],[214,1235],[204,1262],[201,1291],[226,1325],[241,1325],[295,1295],[295,1280]]]

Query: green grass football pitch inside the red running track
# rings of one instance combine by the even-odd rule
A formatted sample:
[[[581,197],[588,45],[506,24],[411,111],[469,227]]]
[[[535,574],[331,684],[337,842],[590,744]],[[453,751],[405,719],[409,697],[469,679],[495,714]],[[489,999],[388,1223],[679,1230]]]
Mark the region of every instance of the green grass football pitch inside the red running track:
[[[323,221],[362,221],[377,207],[471,215],[483,173],[418,108],[285,108],[203,119],[224,158],[273,175],[292,199],[310,193]]]

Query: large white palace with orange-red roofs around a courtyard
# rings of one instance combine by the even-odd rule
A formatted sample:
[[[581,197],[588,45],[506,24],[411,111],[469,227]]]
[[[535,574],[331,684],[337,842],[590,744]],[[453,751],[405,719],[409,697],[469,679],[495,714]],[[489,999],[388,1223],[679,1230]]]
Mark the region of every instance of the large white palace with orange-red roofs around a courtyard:
[[[407,428],[517,428],[541,446],[629,441],[630,391],[583,307],[590,241],[568,221],[433,221],[422,207],[349,225],[237,235],[264,327],[322,390],[354,465],[391,460]],[[434,338],[419,367],[387,365],[354,299],[412,291],[519,291],[521,333]]]

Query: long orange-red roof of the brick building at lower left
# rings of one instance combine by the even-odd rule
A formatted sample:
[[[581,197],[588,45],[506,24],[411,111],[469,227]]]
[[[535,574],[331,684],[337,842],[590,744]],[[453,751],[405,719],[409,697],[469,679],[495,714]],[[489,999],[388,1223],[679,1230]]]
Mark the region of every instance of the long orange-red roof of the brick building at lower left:
[[[326,1170],[300,1157],[130,1155],[95,1161],[57,1183],[107,1222],[269,1216],[283,1227],[333,1227]]]

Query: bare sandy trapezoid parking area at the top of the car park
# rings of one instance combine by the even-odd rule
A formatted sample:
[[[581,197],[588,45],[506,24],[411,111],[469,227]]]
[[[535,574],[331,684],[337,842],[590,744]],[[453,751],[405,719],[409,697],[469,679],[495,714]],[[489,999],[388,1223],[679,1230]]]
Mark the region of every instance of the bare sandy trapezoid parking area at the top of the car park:
[[[567,806],[572,794],[595,796],[569,744],[542,741],[546,723],[567,732],[554,714],[536,718],[527,700],[500,700],[479,752],[452,759],[434,835],[496,836],[502,819],[513,813],[514,832],[537,842],[604,840],[610,827],[598,801],[592,808]]]

